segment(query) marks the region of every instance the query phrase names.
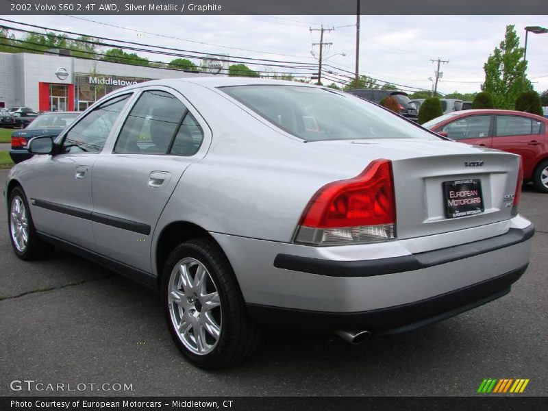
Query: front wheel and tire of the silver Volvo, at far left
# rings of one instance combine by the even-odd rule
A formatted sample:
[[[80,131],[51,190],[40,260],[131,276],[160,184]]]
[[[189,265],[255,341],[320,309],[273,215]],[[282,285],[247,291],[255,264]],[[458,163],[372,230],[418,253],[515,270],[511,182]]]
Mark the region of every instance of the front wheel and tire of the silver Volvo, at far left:
[[[53,246],[38,237],[27,197],[21,187],[16,187],[10,192],[8,230],[13,250],[21,260],[38,260],[51,255]]]

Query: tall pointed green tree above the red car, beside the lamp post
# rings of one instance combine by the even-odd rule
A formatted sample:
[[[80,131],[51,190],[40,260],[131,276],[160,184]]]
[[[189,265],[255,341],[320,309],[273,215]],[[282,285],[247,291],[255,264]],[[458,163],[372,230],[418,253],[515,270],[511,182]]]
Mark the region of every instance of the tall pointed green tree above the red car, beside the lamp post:
[[[493,95],[495,108],[514,108],[516,97],[532,90],[532,84],[525,77],[527,62],[523,60],[525,49],[519,47],[519,38],[514,25],[506,26],[504,40],[495,47],[484,64],[485,81],[482,90]]]

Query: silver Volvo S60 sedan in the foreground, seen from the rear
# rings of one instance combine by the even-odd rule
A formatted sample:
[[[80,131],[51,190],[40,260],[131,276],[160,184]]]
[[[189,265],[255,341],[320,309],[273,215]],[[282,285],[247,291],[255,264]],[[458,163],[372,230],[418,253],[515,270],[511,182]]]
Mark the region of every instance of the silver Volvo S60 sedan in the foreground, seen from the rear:
[[[358,343],[440,321],[530,258],[518,155],[320,86],[137,84],[29,150],[5,187],[16,255],[63,247],[159,290],[204,368],[249,356],[259,325]]]

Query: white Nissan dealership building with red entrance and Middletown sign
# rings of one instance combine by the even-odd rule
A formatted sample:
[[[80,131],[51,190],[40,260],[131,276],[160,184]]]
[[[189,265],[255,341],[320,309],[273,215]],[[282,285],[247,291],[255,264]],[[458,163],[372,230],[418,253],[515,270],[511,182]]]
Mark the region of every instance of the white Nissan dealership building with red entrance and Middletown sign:
[[[151,79],[228,73],[228,63],[210,57],[208,73],[130,66],[59,54],[0,53],[0,108],[83,111],[116,88]]]

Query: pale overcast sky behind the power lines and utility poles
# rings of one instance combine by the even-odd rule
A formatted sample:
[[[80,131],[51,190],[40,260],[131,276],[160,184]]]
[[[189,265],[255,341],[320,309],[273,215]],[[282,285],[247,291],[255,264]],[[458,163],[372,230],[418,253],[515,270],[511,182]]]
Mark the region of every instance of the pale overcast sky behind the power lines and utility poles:
[[[355,16],[83,16],[100,23],[71,16],[12,16],[14,21],[55,27],[84,34],[191,49],[208,53],[229,53],[253,58],[314,62],[312,42],[319,32],[309,26],[338,27],[325,34],[333,45],[328,62],[354,71],[356,51]],[[483,65],[504,38],[506,25],[523,28],[548,27],[548,16],[361,16],[360,73],[386,82],[417,88],[432,88],[428,77],[435,66],[430,59],[449,60],[443,65],[438,90],[448,93],[479,91]],[[152,34],[138,33],[128,29]],[[340,27],[347,26],[350,27]],[[160,34],[178,39],[155,36]],[[194,42],[190,42],[192,40]],[[210,43],[211,45],[200,44]],[[220,47],[225,46],[225,47]],[[232,48],[231,48],[232,47]],[[249,51],[244,51],[246,49]],[[317,47],[314,48],[317,54]],[[158,55],[150,60],[169,61]],[[527,75],[538,92],[548,89],[548,34],[530,34],[527,44]],[[199,62],[197,62],[199,63]],[[263,71],[261,66],[250,66]]]

